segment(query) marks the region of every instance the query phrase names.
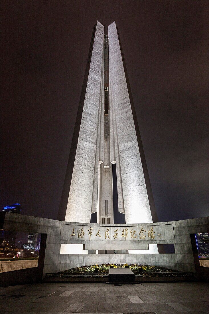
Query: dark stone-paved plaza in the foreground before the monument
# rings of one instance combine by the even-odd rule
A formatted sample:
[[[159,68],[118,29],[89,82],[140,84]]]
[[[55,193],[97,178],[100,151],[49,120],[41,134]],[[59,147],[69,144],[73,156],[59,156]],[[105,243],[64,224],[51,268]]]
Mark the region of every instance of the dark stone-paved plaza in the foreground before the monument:
[[[27,284],[0,290],[3,313],[209,313],[209,284]]]

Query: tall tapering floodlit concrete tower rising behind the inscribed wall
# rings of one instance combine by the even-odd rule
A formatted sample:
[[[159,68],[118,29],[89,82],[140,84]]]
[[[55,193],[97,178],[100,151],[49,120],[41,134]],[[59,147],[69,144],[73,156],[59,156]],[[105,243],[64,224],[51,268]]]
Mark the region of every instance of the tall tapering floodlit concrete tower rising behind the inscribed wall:
[[[147,165],[115,22],[96,23],[58,219],[114,224],[112,168],[118,211],[126,224],[157,222]],[[157,246],[156,246],[157,249]]]

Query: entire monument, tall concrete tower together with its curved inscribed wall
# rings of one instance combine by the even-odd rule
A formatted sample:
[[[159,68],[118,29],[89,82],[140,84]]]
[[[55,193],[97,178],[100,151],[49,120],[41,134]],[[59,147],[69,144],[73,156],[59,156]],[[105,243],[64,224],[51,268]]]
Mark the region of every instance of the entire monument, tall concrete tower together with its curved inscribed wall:
[[[125,224],[114,217],[114,167],[116,209]],[[41,234],[38,267],[1,275],[4,285],[103,263],[156,265],[205,276],[195,234],[208,232],[209,217],[158,222],[115,22],[108,35],[99,22],[94,26],[58,219],[3,212],[0,227]],[[160,252],[163,245],[173,252]]]

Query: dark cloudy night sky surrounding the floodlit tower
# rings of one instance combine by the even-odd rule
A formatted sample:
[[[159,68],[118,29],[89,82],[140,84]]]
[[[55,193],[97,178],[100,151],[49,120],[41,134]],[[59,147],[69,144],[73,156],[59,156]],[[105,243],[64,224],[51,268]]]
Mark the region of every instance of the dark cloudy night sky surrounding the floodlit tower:
[[[118,25],[160,221],[209,215],[208,1],[1,1],[1,202],[56,219],[93,26]]]

